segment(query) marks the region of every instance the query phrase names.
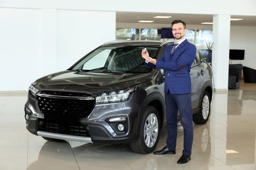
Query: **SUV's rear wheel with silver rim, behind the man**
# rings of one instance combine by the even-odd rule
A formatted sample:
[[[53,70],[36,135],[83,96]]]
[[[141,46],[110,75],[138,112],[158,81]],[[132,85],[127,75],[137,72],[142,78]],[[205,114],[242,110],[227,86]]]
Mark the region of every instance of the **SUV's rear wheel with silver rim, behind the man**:
[[[208,121],[211,111],[211,99],[209,96],[209,92],[203,92],[199,112],[193,115],[193,121],[195,124],[206,124]]]

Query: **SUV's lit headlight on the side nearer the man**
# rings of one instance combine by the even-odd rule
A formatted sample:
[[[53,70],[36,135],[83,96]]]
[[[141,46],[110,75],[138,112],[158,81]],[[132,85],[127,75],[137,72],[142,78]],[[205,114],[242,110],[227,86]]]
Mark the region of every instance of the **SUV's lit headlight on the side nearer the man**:
[[[127,88],[125,90],[117,90],[108,93],[100,93],[96,95],[96,104],[100,103],[114,103],[119,101],[126,101],[131,96],[135,88]]]

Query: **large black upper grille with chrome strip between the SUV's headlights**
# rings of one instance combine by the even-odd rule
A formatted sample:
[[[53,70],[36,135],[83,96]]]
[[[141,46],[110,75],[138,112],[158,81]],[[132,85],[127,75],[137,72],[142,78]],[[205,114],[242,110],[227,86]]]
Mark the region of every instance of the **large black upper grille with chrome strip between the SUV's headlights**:
[[[51,118],[56,118],[54,114],[87,118],[95,106],[95,97],[86,93],[42,91],[37,93],[37,105]]]

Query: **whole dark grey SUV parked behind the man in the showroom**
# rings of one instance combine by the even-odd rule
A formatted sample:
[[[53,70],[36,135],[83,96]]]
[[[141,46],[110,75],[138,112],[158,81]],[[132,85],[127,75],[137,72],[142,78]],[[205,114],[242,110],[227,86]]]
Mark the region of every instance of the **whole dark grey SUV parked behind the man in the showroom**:
[[[28,131],[49,141],[129,143],[134,152],[152,152],[165,123],[165,71],[145,65],[141,51],[157,59],[171,43],[107,42],[69,69],[39,78],[25,105]],[[205,124],[212,71],[199,52],[190,77],[193,120]]]

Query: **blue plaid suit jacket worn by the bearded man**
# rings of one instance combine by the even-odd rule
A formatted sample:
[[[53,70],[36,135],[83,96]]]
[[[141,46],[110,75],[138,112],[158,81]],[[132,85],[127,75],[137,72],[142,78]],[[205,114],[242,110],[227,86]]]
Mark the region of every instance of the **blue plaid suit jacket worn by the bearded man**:
[[[190,68],[196,57],[196,46],[187,40],[181,42],[171,55],[173,44],[167,46],[156,61],[156,69],[165,69],[165,90],[173,94],[191,93]]]

